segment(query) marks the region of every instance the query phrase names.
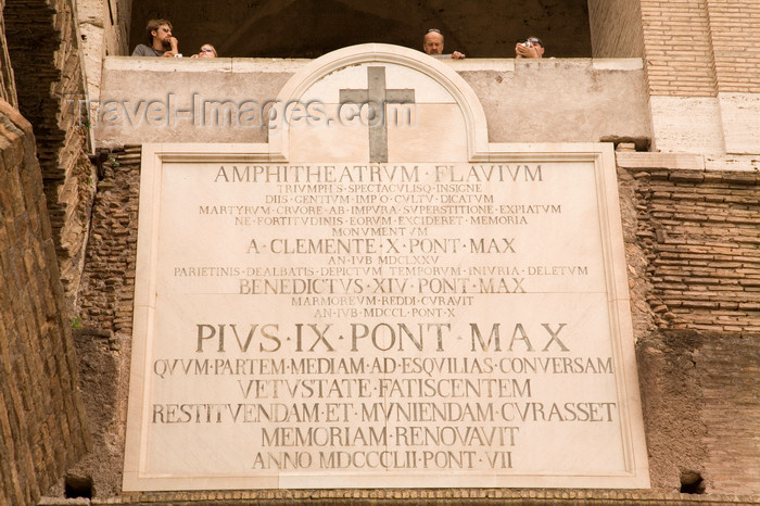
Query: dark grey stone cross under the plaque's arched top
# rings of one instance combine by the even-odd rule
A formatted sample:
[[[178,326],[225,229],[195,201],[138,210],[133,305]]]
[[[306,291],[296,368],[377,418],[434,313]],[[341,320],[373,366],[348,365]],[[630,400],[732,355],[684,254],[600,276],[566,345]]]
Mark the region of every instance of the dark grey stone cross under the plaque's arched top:
[[[385,123],[387,103],[415,103],[414,89],[387,89],[385,67],[367,67],[367,89],[342,89],[340,102],[367,104],[369,127],[369,161],[388,162],[388,124]]]

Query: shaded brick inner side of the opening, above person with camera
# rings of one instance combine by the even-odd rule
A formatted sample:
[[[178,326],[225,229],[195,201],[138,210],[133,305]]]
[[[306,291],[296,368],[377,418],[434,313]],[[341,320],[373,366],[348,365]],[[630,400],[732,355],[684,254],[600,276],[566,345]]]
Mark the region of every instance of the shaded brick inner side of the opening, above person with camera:
[[[588,0],[593,58],[642,58],[644,34],[638,2]]]

